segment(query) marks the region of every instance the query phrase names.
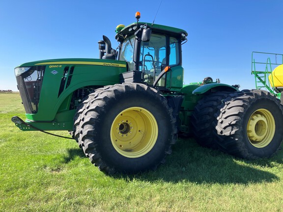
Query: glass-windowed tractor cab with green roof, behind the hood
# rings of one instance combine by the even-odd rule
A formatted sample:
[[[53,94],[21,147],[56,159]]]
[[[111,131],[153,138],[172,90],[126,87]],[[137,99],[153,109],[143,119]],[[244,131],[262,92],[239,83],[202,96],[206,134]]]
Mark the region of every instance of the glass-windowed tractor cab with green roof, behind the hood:
[[[127,62],[127,72],[122,74],[121,82],[143,82],[164,91],[182,88],[181,44],[186,41],[186,31],[139,22],[118,27],[117,59]],[[166,67],[171,72],[163,72]]]

